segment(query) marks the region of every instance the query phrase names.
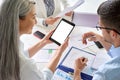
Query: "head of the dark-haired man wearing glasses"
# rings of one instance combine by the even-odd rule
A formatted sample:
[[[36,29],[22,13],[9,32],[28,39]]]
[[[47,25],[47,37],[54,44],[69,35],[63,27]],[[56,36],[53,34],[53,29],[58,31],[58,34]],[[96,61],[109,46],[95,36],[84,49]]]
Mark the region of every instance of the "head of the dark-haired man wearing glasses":
[[[103,2],[97,13],[99,24],[106,41],[114,43],[113,38],[120,36],[120,0],[108,0]]]

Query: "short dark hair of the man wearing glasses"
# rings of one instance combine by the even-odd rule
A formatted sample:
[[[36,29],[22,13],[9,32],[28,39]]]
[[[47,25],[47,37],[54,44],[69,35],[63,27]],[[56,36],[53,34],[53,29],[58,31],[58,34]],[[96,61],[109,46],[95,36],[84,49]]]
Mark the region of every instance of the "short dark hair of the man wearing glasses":
[[[99,6],[97,13],[105,27],[120,32],[120,0],[108,0],[103,2]]]

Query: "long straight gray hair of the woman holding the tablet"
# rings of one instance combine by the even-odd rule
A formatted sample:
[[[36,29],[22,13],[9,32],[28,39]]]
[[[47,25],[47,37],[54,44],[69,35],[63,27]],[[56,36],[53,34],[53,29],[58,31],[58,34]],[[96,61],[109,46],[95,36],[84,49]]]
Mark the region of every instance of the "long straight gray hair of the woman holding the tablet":
[[[0,80],[20,80],[19,18],[27,15],[35,3],[0,1]]]

